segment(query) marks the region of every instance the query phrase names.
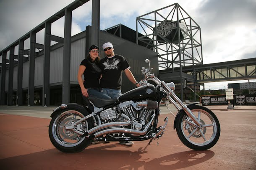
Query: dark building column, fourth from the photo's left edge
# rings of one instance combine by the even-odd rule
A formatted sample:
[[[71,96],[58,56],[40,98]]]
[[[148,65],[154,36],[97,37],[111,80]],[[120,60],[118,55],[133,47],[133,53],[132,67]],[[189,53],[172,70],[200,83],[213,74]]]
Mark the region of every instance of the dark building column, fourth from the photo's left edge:
[[[36,36],[36,33],[30,33],[28,106],[34,106]]]

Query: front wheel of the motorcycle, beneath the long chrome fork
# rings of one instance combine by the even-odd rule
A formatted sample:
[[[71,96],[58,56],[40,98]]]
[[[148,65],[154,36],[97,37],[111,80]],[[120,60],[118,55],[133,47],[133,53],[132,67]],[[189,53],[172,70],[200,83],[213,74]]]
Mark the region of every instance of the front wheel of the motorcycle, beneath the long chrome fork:
[[[195,117],[203,125],[202,128],[196,127],[193,120],[181,111],[177,116],[176,132],[180,141],[192,150],[208,150],[213,147],[220,136],[219,120],[208,108],[191,105],[188,107]]]

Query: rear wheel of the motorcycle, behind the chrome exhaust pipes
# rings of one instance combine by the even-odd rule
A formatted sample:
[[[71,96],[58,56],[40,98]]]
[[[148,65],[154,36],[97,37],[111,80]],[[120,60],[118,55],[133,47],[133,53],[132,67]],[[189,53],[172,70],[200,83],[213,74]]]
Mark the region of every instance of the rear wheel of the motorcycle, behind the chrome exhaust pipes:
[[[58,150],[62,152],[80,152],[91,143],[86,137],[65,129],[66,125],[73,124],[79,119],[87,116],[88,113],[80,109],[62,109],[58,110],[53,116],[49,125],[49,137]],[[88,131],[93,127],[90,119],[77,124],[76,128],[80,131]]]

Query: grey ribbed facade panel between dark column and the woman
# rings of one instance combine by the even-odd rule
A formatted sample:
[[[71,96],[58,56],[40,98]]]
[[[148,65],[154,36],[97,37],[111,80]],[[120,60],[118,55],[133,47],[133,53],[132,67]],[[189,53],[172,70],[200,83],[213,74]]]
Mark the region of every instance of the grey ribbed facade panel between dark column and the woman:
[[[81,61],[85,58],[85,38],[71,43],[71,73],[70,81],[78,83],[77,73]]]

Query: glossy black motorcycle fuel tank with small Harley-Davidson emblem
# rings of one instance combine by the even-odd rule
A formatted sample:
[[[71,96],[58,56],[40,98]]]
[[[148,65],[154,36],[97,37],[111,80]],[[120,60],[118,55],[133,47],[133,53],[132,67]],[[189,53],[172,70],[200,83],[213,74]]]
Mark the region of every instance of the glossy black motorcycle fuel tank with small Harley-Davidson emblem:
[[[119,96],[119,101],[127,100],[142,100],[142,99],[151,99],[154,100],[157,98],[157,89],[155,86],[140,86],[130,91],[127,91],[123,95]]]

